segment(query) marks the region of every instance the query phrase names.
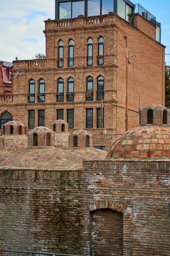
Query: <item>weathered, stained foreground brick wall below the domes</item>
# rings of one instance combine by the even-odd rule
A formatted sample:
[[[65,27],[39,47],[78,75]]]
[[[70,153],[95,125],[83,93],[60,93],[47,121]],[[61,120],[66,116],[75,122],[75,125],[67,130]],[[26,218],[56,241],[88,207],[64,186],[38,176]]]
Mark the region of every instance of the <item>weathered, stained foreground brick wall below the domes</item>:
[[[79,171],[1,169],[1,247],[170,256],[169,177],[169,161],[86,161]]]

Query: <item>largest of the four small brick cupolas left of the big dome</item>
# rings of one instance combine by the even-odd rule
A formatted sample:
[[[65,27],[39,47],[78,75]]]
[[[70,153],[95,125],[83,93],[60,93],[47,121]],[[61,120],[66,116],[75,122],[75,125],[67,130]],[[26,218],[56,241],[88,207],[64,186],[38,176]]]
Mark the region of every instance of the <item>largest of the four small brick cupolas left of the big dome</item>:
[[[54,132],[44,126],[33,128],[28,135],[28,146],[54,146]]]

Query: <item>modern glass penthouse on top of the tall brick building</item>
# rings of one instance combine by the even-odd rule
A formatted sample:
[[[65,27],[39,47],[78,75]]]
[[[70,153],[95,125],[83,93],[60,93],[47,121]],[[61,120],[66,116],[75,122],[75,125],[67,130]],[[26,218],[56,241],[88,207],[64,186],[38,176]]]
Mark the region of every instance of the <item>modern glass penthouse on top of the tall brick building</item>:
[[[117,13],[121,18],[133,24],[133,14],[139,13],[157,27],[156,40],[160,43],[161,24],[155,16],[140,4],[129,0],[55,0],[55,19],[68,19],[77,16],[97,16],[107,13]]]

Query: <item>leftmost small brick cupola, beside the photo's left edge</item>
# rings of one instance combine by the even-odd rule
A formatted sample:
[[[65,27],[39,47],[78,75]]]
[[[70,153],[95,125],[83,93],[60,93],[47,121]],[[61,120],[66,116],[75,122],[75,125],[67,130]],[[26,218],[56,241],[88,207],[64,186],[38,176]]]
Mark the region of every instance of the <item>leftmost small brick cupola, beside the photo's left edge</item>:
[[[26,126],[19,121],[9,121],[2,126],[2,135],[25,135]]]

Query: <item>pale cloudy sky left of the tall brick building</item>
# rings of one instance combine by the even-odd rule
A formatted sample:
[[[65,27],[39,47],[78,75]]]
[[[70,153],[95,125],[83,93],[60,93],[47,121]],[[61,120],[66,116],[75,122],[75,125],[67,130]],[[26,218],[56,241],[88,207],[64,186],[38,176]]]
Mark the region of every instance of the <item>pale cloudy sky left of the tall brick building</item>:
[[[44,20],[55,18],[54,0],[7,0],[1,3],[0,60],[12,62],[45,54]]]

